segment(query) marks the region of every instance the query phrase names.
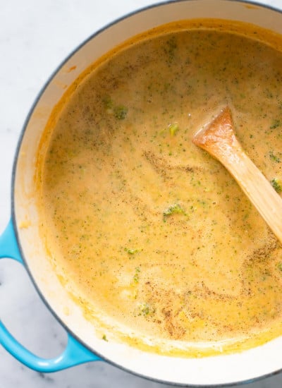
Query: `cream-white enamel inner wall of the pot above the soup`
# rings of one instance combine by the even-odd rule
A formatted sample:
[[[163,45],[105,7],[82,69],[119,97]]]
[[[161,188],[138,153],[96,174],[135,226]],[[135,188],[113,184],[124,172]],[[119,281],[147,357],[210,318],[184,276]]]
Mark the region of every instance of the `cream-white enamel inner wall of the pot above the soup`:
[[[94,328],[69,298],[59,282],[39,236],[39,215],[35,206],[35,160],[39,140],[55,104],[75,78],[91,63],[117,44],[158,25],[192,18],[223,18],[253,23],[282,34],[282,13],[261,5],[230,0],[173,1],[137,11],[90,37],[59,67],[45,85],[20,138],[13,171],[13,222],[25,265],[37,291],[73,335],[102,358],[137,375],[187,385],[232,384],[250,381],[282,369],[282,337],[242,353],[207,358],[160,356],[106,342],[94,335]],[[75,70],[68,69],[75,67]],[[30,226],[20,229],[20,222]],[[67,312],[67,313],[66,313]]]

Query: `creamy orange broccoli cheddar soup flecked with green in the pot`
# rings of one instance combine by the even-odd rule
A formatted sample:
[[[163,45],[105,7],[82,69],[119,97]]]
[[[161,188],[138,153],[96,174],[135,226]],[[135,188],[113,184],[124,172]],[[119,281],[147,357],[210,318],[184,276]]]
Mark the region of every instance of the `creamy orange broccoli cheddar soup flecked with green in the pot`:
[[[252,25],[165,25],[94,63],[54,111],[39,158],[42,234],[101,338],[203,356],[282,334],[281,245],[191,141],[228,105],[281,192],[281,47]]]

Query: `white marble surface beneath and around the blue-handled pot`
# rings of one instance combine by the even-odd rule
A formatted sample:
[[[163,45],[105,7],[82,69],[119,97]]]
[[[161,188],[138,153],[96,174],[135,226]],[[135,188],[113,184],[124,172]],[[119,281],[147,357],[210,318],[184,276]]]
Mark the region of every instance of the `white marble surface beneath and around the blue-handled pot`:
[[[282,9],[281,0],[260,1]],[[11,169],[18,135],[54,68],[95,30],[156,0],[0,0],[0,232],[10,217]],[[66,333],[12,260],[0,261],[1,320],[39,356],[56,356]],[[43,375],[20,365],[0,346],[0,388],[166,387],[97,362]],[[250,388],[281,387],[282,375]],[[167,386],[168,387],[168,386]]]

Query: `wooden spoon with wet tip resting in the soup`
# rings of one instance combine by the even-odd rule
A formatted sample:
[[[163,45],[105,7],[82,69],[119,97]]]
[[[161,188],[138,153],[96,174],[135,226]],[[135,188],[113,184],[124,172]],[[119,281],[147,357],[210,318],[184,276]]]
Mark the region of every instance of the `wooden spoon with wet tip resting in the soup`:
[[[192,142],[228,169],[282,243],[282,198],[243,151],[233,131],[230,109],[221,110],[212,123],[195,133]]]

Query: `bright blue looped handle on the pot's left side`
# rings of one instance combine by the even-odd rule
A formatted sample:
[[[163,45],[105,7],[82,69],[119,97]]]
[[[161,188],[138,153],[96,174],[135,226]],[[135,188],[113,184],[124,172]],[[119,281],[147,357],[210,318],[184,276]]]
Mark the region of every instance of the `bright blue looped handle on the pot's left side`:
[[[18,249],[15,231],[12,220],[8,223],[5,231],[0,236],[0,259],[9,257],[23,264],[23,259]],[[28,351],[8,332],[0,319],[0,344],[17,358],[20,363],[38,372],[58,372],[75,365],[90,361],[101,360],[96,354],[85,348],[71,334],[68,333],[68,344],[66,349],[56,358],[40,358]]]

